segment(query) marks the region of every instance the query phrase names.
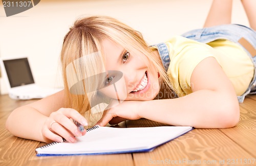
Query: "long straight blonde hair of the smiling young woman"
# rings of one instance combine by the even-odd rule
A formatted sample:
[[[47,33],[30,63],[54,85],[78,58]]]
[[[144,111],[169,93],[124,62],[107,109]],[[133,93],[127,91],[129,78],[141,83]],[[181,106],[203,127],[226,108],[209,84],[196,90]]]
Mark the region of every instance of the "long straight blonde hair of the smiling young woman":
[[[126,26],[120,21],[108,16],[90,16],[77,19],[73,27],[67,33],[63,40],[61,50],[61,63],[63,83],[65,86],[66,107],[76,109],[84,116],[90,116],[91,108],[87,94],[72,94],[69,91],[66,67],[74,60],[93,54],[101,53],[100,42],[103,38],[108,38],[120,44],[126,50],[137,50],[143,53],[157,68],[160,77],[167,87],[171,87],[166,72],[162,69],[161,64],[152,55],[150,46],[145,42],[142,35]],[[102,57],[103,58],[103,57]],[[98,74],[98,67],[95,63],[79,64],[80,68],[87,70],[87,73]],[[91,85],[90,85],[91,86]]]

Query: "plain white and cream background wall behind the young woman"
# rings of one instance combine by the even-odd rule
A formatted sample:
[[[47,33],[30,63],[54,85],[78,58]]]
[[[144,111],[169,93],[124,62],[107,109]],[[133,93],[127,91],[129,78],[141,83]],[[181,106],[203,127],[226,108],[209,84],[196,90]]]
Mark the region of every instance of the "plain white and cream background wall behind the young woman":
[[[223,0],[224,2],[225,0]],[[211,0],[41,0],[35,7],[6,17],[0,5],[0,56],[27,56],[35,82],[61,87],[59,62],[63,37],[79,16],[108,15],[140,31],[149,44],[202,28]],[[232,22],[248,26],[240,0],[233,1]],[[3,78],[0,92],[7,93]]]

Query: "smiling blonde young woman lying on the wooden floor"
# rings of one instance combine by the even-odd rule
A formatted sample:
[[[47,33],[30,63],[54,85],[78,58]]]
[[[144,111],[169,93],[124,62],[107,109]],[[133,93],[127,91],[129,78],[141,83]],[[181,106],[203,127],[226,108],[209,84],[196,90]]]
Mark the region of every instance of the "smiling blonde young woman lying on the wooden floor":
[[[70,119],[88,125],[100,103],[109,104],[101,126],[142,117],[196,128],[235,126],[237,96],[242,102],[255,90],[256,3],[242,4],[253,30],[229,24],[232,0],[214,0],[204,29],[153,46],[113,18],[77,20],[61,51],[65,89],[15,109],[7,129],[23,138],[75,143],[86,131]]]

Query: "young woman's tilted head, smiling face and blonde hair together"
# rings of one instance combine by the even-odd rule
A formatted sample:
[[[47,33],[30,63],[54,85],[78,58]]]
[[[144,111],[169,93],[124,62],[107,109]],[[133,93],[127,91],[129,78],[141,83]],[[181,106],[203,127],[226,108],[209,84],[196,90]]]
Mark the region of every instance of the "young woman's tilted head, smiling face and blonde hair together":
[[[88,118],[94,105],[117,101],[112,99],[154,99],[158,72],[160,82],[171,87],[158,52],[148,49],[138,31],[108,16],[77,19],[65,35],[60,60],[66,105]]]

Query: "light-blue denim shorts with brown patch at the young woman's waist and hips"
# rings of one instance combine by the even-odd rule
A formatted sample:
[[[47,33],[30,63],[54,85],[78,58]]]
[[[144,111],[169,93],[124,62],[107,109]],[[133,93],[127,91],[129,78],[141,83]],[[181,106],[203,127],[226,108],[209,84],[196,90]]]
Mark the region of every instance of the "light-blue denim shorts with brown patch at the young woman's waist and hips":
[[[238,97],[238,100],[242,103],[247,94],[256,93],[256,32],[254,30],[242,25],[232,24],[196,29],[181,36],[203,43],[226,39],[242,46],[254,64],[254,76],[248,89],[242,96]]]

